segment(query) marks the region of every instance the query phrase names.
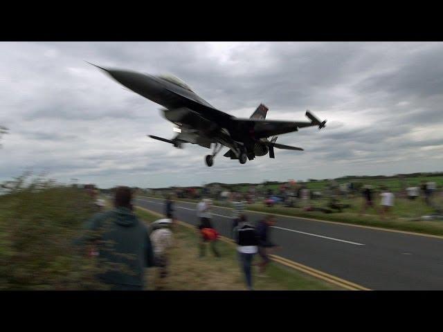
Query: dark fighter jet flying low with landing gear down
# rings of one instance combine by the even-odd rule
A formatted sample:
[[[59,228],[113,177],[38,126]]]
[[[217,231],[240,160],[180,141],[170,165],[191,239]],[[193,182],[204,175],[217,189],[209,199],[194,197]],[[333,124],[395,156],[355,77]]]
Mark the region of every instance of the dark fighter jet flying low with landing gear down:
[[[206,147],[213,145],[213,153],[205,158],[206,165],[212,166],[215,156],[223,147],[229,151],[224,156],[238,159],[241,164],[257,156],[275,158],[274,148],[300,150],[275,142],[278,135],[298,131],[299,128],[325,127],[326,120],[320,122],[312,113],[306,111],[309,122],[266,120],[269,110],[260,104],[251,118],[236,118],[219,111],[193,91],[188,84],[172,75],[148,75],[122,69],[102,68],[114,80],[143,97],[165,107],[161,109],[164,117],[174,123],[176,136],[171,139],[149,135],[150,138],[168,142],[181,148],[185,143]],[[271,139],[269,139],[271,138]]]

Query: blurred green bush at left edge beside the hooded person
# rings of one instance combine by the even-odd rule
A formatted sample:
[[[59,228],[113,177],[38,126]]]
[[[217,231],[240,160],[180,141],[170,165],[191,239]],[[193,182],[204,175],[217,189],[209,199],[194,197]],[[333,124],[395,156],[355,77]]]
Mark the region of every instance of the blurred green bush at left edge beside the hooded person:
[[[27,176],[0,196],[0,289],[101,289],[95,261],[74,245],[94,212],[78,188]]]

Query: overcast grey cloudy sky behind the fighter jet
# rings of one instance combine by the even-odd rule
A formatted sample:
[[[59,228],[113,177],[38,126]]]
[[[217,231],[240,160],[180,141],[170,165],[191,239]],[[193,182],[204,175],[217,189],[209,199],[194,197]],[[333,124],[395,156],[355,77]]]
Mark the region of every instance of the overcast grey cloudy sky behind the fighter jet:
[[[0,181],[26,169],[100,187],[335,178],[441,171],[443,44],[434,42],[3,42]],[[307,120],[275,150],[245,165],[209,149],[175,149],[160,105],[97,68],[172,73],[214,107],[248,118]]]

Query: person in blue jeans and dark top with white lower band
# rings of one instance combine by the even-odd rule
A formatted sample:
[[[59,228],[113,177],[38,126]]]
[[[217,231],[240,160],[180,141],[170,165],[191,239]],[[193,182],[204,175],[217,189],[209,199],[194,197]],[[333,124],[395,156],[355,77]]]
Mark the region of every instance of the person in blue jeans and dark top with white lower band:
[[[246,279],[246,286],[249,291],[252,291],[252,260],[258,251],[258,239],[255,227],[248,223],[246,216],[242,215],[239,224],[235,227],[233,238],[237,243],[237,252],[244,277]]]

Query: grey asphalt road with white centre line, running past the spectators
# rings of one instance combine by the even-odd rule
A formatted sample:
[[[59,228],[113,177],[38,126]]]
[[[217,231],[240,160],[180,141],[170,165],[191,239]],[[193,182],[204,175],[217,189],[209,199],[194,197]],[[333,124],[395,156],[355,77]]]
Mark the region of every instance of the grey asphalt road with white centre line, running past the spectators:
[[[164,212],[159,199],[136,205]],[[196,204],[176,202],[177,219],[197,224]],[[213,225],[230,237],[231,210],[213,208]],[[249,221],[264,214],[247,212]],[[443,239],[278,216],[271,239],[281,257],[374,290],[443,290]]]

